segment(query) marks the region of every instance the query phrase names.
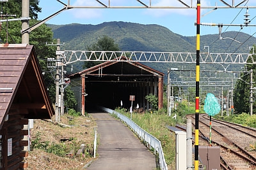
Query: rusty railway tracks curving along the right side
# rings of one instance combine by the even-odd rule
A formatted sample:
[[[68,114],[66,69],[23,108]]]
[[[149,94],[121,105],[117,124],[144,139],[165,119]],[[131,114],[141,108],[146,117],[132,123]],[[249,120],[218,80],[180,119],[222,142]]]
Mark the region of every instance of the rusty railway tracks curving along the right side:
[[[195,127],[195,115],[187,115]],[[177,128],[186,131],[184,127]],[[209,117],[200,114],[199,145],[209,145]],[[256,130],[242,125],[212,119],[212,145],[220,146],[221,169],[255,169],[256,152],[250,145],[256,143]]]

